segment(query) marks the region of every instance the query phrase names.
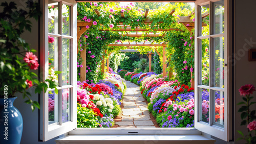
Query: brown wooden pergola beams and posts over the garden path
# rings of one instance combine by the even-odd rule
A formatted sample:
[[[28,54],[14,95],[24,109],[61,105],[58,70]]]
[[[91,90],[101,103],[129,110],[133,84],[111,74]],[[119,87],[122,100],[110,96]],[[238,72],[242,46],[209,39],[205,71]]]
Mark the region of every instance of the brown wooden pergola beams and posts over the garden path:
[[[94,10],[95,13],[100,16],[100,13],[99,13],[99,10],[98,9],[95,9]],[[145,23],[145,24],[148,24],[149,26],[152,24],[152,20],[147,18],[147,14],[148,14],[149,10],[145,10],[145,14],[144,14],[144,18],[146,18],[144,21],[142,21],[142,23]],[[175,12],[175,10],[172,10],[169,12],[169,15],[172,15],[173,13]],[[193,20],[191,20],[191,15],[194,14],[195,12],[191,12],[188,16],[180,16],[179,19],[177,19],[177,21],[179,23],[182,23],[182,25],[184,27],[186,27],[186,29],[191,32],[191,30],[193,30],[195,28],[195,23]],[[124,13],[120,11],[120,14],[121,14],[121,17],[124,17]],[[202,17],[206,17],[208,16],[209,13],[206,12],[204,14],[202,14]],[[162,21],[158,22],[158,23],[163,23]],[[83,21],[78,21],[77,22],[77,42],[79,42],[79,39],[81,37],[81,35],[86,32],[88,29],[86,28],[86,26],[89,26],[89,28],[92,26],[92,22],[83,22]],[[202,26],[207,26],[206,23],[202,23]],[[143,28],[140,28],[140,27],[136,27],[136,28],[131,28],[129,26],[125,26],[123,25],[123,22],[119,22],[119,25],[118,25],[118,28],[119,29],[116,29],[116,30],[113,30],[113,31],[136,31],[136,34],[128,34],[126,32],[125,35],[123,36],[129,36],[129,37],[141,37],[142,34],[138,34],[138,31],[149,31],[147,29],[143,29]],[[169,28],[169,29],[154,29],[154,31],[182,31],[180,29],[173,29],[173,28]],[[101,29],[100,31],[108,31],[106,29]],[[158,36],[164,36],[164,35],[160,35],[160,34],[146,34],[144,35],[145,37],[158,37]],[[163,77],[166,76],[166,51],[165,51],[165,46],[166,46],[166,43],[161,43],[161,44],[148,44],[148,43],[144,43],[143,44],[132,44],[130,43],[113,43],[113,44],[109,44],[108,46],[127,46],[127,49],[131,49],[131,46],[163,46]],[[86,47],[84,47],[86,48]],[[77,52],[78,52],[78,47],[77,47]],[[105,50],[106,52],[106,50]],[[157,51],[156,51],[157,52]],[[158,53],[158,52],[157,52]],[[111,54],[108,54],[109,56]],[[148,58],[151,60],[151,55],[148,55]],[[158,55],[160,56],[160,53],[158,53]],[[82,65],[86,65],[86,49],[83,49],[83,51],[81,52],[81,57],[83,59],[83,62],[82,62]],[[151,64],[151,63],[150,63]],[[109,65],[109,59],[107,59],[107,65]],[[105,60],[104,60],[104,56],[103,56],[103,60],[102,60],[102,65],[101,65],[101,68],[102,68],[102,73],[104,73],[104,66],[105,66]],[[150,65],[150,70],[151,70],[151,65]],[[108,67],[108,71],[109,71],[109,67]],[[81,81],[86,81],[86,66],[83,66],[81,67],[81,71],[80,71],[80,78],[81,78]],[[191,74],[192,75],[192,74]],[[172,76],[172,73],[169,73],[169,77]]]

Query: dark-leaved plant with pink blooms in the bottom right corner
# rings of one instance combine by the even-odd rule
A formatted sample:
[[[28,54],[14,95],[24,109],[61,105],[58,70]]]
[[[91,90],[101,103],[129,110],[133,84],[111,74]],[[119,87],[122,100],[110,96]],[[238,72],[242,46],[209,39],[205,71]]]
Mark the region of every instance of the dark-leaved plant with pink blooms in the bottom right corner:
[[[247,125],[248,133],[245,135],[242,131],[237,131],[242,137],[238,138],[237,140],[244,139],[247,143],[256,143],[256,118],[255,116],[255,109],[251,110],[250,106],[255,104],[256,102],[251,102],[253,99],[250,94],[253,94],[255,91],[255,87],[252,84],[246,84],[239,89],[240,95],[242,96],[243,101],[239,102],[237,105],[243,105],[238,112],[241,113],[241,126]]]

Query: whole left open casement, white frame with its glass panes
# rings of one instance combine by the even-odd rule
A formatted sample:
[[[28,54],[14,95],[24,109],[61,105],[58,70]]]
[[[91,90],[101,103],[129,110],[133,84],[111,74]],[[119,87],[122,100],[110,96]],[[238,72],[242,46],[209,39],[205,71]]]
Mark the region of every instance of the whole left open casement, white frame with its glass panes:
[[[76,128],[76,2],[49,0],[41,5],[44,6],[44,28],[40,32],[42,79],[62,71],[55,76],[57,89],[47,89],[41,94],[40,139],[47,141]]]

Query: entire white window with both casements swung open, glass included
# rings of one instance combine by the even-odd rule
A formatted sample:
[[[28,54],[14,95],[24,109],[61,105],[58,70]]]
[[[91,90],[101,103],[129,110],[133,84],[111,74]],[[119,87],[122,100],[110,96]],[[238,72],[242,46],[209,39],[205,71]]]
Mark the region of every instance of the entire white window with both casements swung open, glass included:
[[[226,141],[232,139],[232,129],[230,128],[232,124],[231,61],[228,61],[231,60],[228,59],[231,55],[229,48],[231,42],[228,40],[231,39],[231,27],[228,27],[231,22],[231,20],[229,22],[230,16],[228,15],[231,9],[231,7],[229,9],[230,2],[230,0],[198,0],[195,3],[195,129],[76,129],[76,2],[74,0],[42,1],[41,6],[44,6],[41,18],[41,23],[44,25],[40,29],[41,41],[43,41],[40,45],[42,78],[48,77],[49,68],[54,67],[54,70],[62,71],[62,73],[58,76],[58,94],[53,93],[54,89],[48,89],[45,94],[42,94],[40,100],[40,119],[42,119],[40,139],[47,141],[67,132],[73,136],[103,135],[102,139],[106,138],[104,137],[106,135],[135,134],[154,135],[156,137],[157,135],[201,135],[201,132],[204,132]],[[202,16],[202,12],[205,11],[208,11],[209,14]],[[201,23],[205,20],[208,20],[206,23],[209,25],[209,31],[202,33]],[[49,43],[48,36],[53,37],[54,42]],[[208,83],[201,80],[202,46],[207,46],[202,45],[202,41],[208,42]],[[209,92],[208,121],[202,113],[202,90]],[[53,91],[53,94],[49,94],[49,91]],[[218,113],[215,112],[216,93],[218,93],[219,98],[223,98],[218,103],[224,105],[224,110],[221,109]],[[54,99],[52,99],[53,97]],[[49,98],[54,100],[54,102],[51,101],[54,103],[54,108],[50,110],[48,108]],[[217,122],[215,121],[216,115],[221,116]],[[97,138],[100,140],[100,137]]]

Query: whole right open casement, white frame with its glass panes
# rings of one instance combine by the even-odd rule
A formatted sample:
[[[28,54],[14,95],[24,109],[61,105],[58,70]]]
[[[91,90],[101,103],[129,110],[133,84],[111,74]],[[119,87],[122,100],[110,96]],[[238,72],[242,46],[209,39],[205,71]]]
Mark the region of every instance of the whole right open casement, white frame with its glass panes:
[[[226,0],[195,5],[195,128],[226,141],[232,105],[227,6]]]

